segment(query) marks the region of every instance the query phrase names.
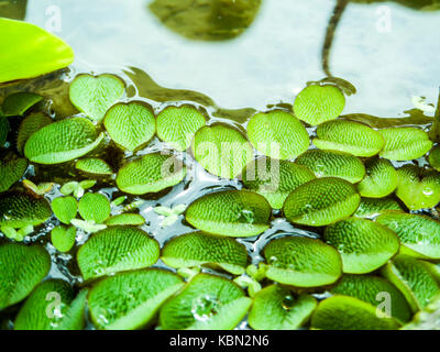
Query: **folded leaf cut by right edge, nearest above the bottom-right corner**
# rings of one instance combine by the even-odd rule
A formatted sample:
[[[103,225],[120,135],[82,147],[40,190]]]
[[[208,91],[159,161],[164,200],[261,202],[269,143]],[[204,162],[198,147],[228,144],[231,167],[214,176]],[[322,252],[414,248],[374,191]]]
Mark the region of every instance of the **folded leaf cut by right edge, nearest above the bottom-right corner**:
[[[440,294],[440,285],[432,276],[427,262],[397,255],[382,272],[404,294],[413,312],[425,308]]]

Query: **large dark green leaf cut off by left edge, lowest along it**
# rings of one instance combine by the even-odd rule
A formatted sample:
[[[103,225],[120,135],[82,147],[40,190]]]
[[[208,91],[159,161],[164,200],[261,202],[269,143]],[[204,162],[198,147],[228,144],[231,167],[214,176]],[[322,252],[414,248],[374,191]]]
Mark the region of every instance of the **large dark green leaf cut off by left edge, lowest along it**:
[[[3,244],[0,263],[0,309],[25,298],[51,268],[51,257],[40,245]]]

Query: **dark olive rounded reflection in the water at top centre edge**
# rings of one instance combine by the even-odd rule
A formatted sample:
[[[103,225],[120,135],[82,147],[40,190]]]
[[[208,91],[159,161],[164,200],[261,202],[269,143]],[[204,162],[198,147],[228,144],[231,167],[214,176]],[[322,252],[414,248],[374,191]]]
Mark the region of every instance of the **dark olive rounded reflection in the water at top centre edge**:
[[[254,21],[261,0],[154,0],[148,9],[169,30],[189,40],[224,41]]]

